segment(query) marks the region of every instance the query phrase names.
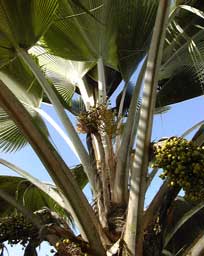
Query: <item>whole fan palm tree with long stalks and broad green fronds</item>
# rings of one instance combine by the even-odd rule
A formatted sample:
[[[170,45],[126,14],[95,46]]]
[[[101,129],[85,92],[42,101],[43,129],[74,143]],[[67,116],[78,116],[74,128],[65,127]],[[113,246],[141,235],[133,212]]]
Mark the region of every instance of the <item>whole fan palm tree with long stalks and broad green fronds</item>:
[[[182,207],[177,200],[175,206],[181,186],[169,187],[168,179],[146,210],[144,198],[156,174],[148,173],[153,114],[203,94],[203,8],[194,0],[0,0],[0,146],[14,151],[30,143],[55,183],[0,161],[23,177],[1,177],[0,196],[7,202],[1,221],[5,227],[18,219],[24,227],[23,234],[12,232],[15,225],[1,231],[1,242],[23,241],[25,255],[36,255],[42,240],[56,255],[183,253],[182,243],[172,249],[172,238],[202,203]],[[110,97],[122,80],[112,108]],[[43,102],[55,108],[65,132],[40,108]],[[66,111],[77,117],[77,130]],[[76,168],[52,145],[44,119],[78,157]],[[78,132],[86,134],[88,151]],[[94,206],[82,192],[87,183]],[[27,200],[32,193],[39,204],[25,208],[28,191]],[[168,230],[169,212],[177,209],[178,223]],[[152,232],[155,225],[165,228]],[[195,230],[182,255],[200,236]]]

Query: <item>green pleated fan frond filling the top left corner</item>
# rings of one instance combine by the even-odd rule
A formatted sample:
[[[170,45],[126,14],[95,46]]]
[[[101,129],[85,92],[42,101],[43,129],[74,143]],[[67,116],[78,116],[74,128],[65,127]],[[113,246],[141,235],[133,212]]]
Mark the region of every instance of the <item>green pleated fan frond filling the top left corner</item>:
[[[14,46],[28,49],[47,31],[56,8],[57,0],[1,0],[0,31]]]

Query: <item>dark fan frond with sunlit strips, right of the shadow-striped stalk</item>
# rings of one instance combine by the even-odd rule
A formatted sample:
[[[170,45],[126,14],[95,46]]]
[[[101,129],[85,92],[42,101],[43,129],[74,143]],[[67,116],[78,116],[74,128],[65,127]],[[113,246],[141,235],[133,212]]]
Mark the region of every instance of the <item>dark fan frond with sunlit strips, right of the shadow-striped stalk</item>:
[[[204,93],[204,14],[201,11],[204,5],[202,1],[188,4],[178,5],[170,16],[160,69],[157,107]]]

